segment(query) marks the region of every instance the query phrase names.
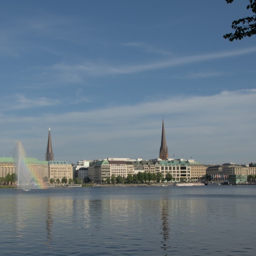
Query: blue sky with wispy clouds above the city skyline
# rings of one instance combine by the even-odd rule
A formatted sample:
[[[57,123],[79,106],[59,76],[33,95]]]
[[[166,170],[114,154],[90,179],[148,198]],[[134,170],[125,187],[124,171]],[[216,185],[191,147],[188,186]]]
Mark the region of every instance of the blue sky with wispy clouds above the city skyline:
[[[256,37],[236,0],[3,1],[0,148],[44,160],[256,162]],[[3,153],[4,152],[4,153]]]

